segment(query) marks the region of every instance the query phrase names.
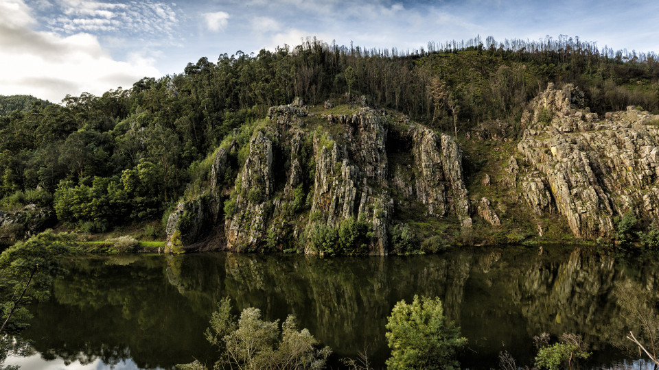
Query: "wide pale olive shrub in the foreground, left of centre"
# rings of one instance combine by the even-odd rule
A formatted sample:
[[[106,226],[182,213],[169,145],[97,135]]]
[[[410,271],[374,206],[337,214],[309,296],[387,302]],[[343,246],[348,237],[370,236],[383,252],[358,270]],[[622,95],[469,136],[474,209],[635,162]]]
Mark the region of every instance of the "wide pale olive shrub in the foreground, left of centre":
[[[207,340],[220,351],[215,369],[323,369],[329,347],[318,348],[319,342],[309,330],[298,331],[295,317],[289,315],[281,325],[279,320],[263,321],[257,308],[245,308],[236,320],[231,314],[231,299],[222,299],[213,312]],[[201,370],[198,361],[176,365],[179,369]]]

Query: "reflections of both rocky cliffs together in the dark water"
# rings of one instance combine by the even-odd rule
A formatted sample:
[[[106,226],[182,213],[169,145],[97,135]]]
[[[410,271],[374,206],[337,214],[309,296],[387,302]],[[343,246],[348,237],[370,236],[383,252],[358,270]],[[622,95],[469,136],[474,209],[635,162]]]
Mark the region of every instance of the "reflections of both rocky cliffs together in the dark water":
[[[257,306],[271,319],[292,312],[343,356],[365,345],[386,356],[384,323],[393,304],[414,294],[439,296],[470,347],[487,359],[470,354],[483,366],[503,349],[531,360],[531,338],[541,332],[574,332],[596,351],[610,347],[625,332],[614,282],[649,276],[624,260],[579,250],[364,260],[230,256],[226,266],[227,293],[241,308]]]

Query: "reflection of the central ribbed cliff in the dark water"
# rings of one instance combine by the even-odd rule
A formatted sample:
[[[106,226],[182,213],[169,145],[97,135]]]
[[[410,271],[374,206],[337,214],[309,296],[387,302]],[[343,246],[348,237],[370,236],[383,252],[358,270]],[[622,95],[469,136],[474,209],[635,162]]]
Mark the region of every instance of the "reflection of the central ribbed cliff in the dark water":
[[[461,301],[468,263],[413,260],[414,270],[406,258],[228,256],[226,287],[240,308],[256,306],[270,319],[295,314],[340,355],[366,346],[384,355],[384,324],[396,301],[414,294],[439,295],[447,306]]]

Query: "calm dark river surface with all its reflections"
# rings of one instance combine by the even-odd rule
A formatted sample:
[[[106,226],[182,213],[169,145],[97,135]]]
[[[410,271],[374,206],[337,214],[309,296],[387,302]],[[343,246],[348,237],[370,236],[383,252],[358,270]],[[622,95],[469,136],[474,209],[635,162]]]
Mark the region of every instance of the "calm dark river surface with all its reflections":
[[[499,351],[531,365],[531,338],[581,334],[588,367],[632,363],[617,349],[627,330],[614,283],[654,289],[659,258],[625,258],[579,249],[464,249],[439,256],[321,259],[223,253],[124,255],[71,262],[49,302],[32,307],[23,337],[34,351],[5,365],[23,369],[169,369],[214,359],[205,341],[211,312],[229,296],[268,320],[294,314],[338,358],[367,349],[376,367],[389,356],[384,324],[394,304],[439,296],[469,340],[471,369],[498,367]],[[637,356],[638,357],[638,356]],[[643,367],[638,361],[636,367]]]

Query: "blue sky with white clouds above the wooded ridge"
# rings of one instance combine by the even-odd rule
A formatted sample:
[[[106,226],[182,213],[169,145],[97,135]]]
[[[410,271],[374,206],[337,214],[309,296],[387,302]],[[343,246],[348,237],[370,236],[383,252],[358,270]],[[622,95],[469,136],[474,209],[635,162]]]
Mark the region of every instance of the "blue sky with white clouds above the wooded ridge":
[[[658,21],[659,1],[650,0],[0,0],[0,95],[55,103],[102,95],[182,73],[202,57],[314,36],[413,50],[477,35],[567,35],[600,49],[659,52]]]

